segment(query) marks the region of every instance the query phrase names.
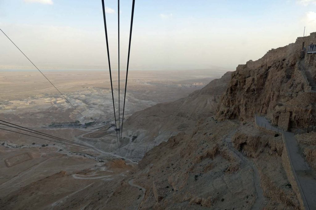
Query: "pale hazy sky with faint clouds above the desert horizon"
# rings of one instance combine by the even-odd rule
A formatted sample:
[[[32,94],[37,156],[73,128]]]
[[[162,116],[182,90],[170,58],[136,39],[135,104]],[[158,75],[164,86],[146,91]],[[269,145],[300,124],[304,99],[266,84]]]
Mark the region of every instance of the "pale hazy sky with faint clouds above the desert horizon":
[[[117,1],[105,0],[117,67]],[[131,0],[121,4],[126,66]],[[235,69],[316,31],[316,0],[136,0],[131,68]],[[107,68],[101,0],[0,0],[0,28],[39,68]],[[0,33],[0,68],[32,68]]]

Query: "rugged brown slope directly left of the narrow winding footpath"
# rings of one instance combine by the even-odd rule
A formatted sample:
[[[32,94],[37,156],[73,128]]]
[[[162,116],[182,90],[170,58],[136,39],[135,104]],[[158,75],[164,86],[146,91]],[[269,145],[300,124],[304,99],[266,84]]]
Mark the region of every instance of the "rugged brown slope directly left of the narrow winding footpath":
[[[251,209],[253,175],[222,144],[236,125],[211,117],[146,153],[132,174],[146,189],[139,209]]]

